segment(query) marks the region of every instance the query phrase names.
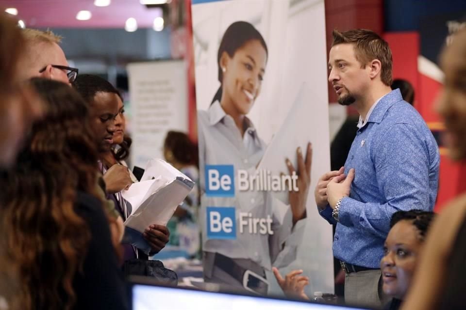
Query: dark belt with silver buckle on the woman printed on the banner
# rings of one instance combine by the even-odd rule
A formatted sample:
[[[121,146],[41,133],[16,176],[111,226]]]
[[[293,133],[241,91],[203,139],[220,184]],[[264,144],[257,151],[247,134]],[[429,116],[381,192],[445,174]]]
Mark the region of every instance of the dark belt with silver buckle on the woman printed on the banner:
[[[257,265],[256,270],[250,270],[220,253],[215,253],[214,265],[238,280],[247,291],[255,294],[267,294],[268,281],[263,267]]]

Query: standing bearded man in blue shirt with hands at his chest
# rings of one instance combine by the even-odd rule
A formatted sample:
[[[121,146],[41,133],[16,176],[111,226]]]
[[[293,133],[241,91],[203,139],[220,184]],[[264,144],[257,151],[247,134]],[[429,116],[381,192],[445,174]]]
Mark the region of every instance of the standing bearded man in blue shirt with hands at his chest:
[[[336,224],[333,254],[346,272],[346,302],[380,307],[390,218],[398,210],[433,210],[438,146],[416,109],[391,90],[392,55],[379,35],[333,31],[329,70],[338,102],[352,104],[360,118],[345,167],[319,179],[316,204]]]

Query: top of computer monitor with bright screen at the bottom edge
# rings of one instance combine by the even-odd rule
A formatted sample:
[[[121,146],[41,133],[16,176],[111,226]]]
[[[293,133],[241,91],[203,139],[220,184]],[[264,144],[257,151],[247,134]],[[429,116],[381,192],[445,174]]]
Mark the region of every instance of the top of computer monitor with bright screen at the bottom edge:
[[[363,310],[342,305],[319,304],[279,297],[216,292],[218,286],[204,289],[169,287],[150,279],[132,278],[130,293],[133,310]],[[211,289],[209,291],[209,289]]]

